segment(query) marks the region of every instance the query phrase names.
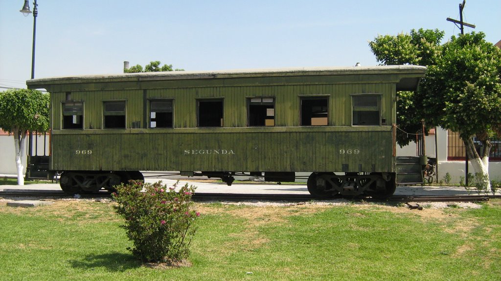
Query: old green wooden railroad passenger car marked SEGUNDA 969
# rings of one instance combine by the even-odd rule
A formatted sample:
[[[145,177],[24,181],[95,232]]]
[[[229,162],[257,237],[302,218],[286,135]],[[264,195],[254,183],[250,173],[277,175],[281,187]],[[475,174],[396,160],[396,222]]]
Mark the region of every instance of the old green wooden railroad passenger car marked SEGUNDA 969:
[[[32,79],[51,96],[50,169],[66,192],[112,189],[141,172],[231,184],[246,172],[308,189],[395,190],[398,90],[423,66],[170,71]]]

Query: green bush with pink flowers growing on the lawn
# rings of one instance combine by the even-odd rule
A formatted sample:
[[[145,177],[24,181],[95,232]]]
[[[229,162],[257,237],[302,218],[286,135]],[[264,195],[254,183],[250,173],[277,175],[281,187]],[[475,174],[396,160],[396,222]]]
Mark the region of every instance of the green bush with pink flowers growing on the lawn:
[[[186,183],[176,192],[159,182],[131,180],[116,186],[113,197],[116,212],[125,219],[121,225],[134,246],[127,249],[143,261],[181,261],[195,233],[194,222],[200,215],[192,208],[195,187]]]

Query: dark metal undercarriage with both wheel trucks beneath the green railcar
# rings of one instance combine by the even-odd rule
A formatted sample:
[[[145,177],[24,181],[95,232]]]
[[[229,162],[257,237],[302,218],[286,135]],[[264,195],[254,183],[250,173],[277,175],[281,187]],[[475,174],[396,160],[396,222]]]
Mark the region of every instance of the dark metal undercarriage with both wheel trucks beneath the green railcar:
[[[235,172],[180,172],[185,176],[207,176],[221,178],[231,185],[234,175],[244,175]],[[245,175],[264,176],[266,181],[293,182],[294,172],[250,172]],[[92,193],[101,189],[114,191],[114,185],[126,183],[129,180],[144,180],[140,171],[64,171],[60,177],[61,189],[64,192]],[[387,198],[396,189],[395,174],[384,172],[347,172],[342,175],[334,172],[313,172],[308,177],[308,191],[318,199],[332,198],[336,195],[355,197],[366,194],[375,198]]]

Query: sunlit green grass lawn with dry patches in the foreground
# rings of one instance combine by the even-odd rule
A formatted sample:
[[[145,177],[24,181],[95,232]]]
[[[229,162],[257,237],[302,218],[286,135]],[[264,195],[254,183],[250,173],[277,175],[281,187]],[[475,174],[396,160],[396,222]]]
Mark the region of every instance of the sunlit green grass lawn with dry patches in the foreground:
[[[192,266],[151,268],[113,203],[0,205],[0,280],[499,280],[501,201],[478,209],[234,206],[202,213]],[[252,272],[252,273],[250,273]]]

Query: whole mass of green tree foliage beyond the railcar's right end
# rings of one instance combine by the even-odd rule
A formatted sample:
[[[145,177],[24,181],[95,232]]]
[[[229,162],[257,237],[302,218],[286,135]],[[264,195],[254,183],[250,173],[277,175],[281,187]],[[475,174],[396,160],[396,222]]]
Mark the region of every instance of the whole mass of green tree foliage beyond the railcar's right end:
[[[383,64],[419,64],[428,67],[417,92],[400,92],[398,126],[415,132],[421,120],[430,126],[458,131],[461,138],[476,135],[485,141],[501,133],[501,50],[471,32],[440,45],[444,32],[412,30],[410,34],[380,35],[369,42]],[[400,145],[412,136],[397,135]]]

